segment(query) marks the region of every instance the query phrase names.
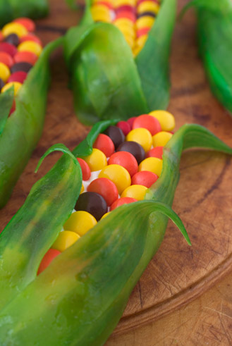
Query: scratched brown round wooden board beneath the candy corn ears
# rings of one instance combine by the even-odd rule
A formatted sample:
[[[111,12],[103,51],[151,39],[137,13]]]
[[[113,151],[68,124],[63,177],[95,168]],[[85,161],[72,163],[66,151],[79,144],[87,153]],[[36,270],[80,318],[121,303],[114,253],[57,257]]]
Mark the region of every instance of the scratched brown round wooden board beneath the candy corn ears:
[[[180,0],[178,10],[188,1]],[[63,0],[51,0],[51,14],[37,21],[44,43],[78,23],[80,13]],[[44,132],[7,206],[1,230],[20,208],[33,183],[60,154],[39,157],[63,142],[73,149],[90,128],[78,122],[62,51],[51,59],[52,82]],[[171,102],[176,128],[199,123],[232,147],[232,118],[212,96],[197,54],[195,16],[189,11],[176,24],[171,54]],[[193,246],[169,223],[164,242],[128,302],[107,346],[232,345],[232,161],[225,154],[189,151],[181,161],[181,180],[173,210],[182,218]],[[59,211],[58,211],[59,212]]]

